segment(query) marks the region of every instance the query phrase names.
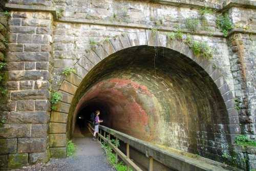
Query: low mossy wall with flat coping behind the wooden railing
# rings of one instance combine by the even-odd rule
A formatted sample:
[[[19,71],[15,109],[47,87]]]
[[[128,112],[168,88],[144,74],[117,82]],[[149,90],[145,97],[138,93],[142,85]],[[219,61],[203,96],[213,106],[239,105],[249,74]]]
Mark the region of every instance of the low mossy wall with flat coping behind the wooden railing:
[[[110,129],[106,126],[99,126],[100,129],[110,133],[111,135],[122,140],[124,143],[129,143],[130,146],[136,148],[147,157],[151,156],[160,163],[177,170],[241,170],[231,166],[226,166],[223,163],[214,160],[206,159],[204,157],[197,157],[194,154],[179,151],[178,149],[171,150],[170,148],[159,147],[150,142],[146,142],[119,131]]]

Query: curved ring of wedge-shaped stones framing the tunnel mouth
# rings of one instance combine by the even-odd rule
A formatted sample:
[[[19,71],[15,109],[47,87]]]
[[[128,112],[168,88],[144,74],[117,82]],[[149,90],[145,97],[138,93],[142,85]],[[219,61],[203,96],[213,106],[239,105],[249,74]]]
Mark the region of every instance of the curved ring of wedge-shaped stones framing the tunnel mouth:
[[[90,71],[104,58],[120,50],[136,46],[165,47],[177,51],[195,61],[215,82],[225,102],[229,120],[229,140],[240,133],[238,112],[234,109],[234,99],[221,71],[214,67],[211,61],[196,57],[189,47],[182,41],[170,41],[166,36],[159,36],[158,32],[146,31],[145,34],[127,34],[105,40],[102,45],[92,47],[86,56],[80,58],[74,65],[77,74],[71,74],[61,84],[59,91],[63,95],[58,104],[58,111],[54,111],[50,118],[50,151],[53,157],[66,156],[66,139],[70,135],[70,122],[75,110],[71,104],[77,103],[73,97],[83,78],[90,77]],[[72,108],[71,108],[72,107]],[[70,115],[69,115],[70,113]],[[68,132],[68,133],[67,133]]]

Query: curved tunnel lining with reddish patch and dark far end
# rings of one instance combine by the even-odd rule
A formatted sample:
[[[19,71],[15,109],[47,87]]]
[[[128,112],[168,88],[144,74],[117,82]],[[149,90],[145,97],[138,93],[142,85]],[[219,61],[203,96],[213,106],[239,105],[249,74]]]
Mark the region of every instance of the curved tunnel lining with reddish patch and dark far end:
[[[228,117],[216,84],[171,49],[132,47],[98,63],[72,102],[70,136],[95,110],[103,125],[145,141],[211,159],[225,148]]]

